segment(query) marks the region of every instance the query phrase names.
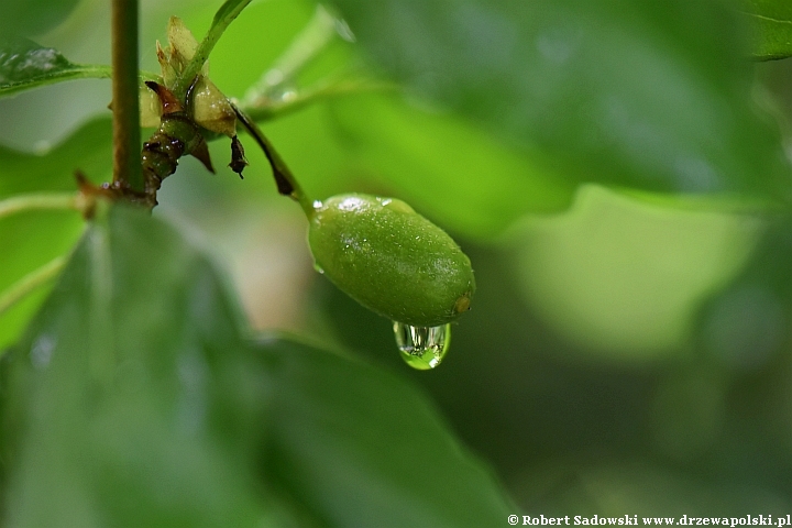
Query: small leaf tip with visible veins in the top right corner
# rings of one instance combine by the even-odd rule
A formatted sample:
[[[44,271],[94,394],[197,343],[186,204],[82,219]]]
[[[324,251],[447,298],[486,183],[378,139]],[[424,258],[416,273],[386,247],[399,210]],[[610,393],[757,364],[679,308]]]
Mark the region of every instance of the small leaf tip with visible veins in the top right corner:
[[[792,57],[792,6],[778,0],[745,0],[751,55],[758,61]]]

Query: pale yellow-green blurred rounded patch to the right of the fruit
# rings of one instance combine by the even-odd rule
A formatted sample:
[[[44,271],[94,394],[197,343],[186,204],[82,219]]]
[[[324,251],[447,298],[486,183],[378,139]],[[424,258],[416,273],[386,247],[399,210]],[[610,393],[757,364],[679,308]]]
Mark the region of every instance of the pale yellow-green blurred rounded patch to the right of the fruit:
[[[678,353],[705,297],[737,276],[766,227],[761,217],[681,201],[668,207],[587,185],[568,212],[526,218],[505,239],[526,299],[597,354]]]

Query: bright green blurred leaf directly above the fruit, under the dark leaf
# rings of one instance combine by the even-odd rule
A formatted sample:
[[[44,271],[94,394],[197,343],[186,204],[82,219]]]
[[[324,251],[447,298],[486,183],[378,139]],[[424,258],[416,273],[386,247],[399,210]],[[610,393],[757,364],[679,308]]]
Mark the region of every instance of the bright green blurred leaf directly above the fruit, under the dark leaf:
[[[383,96],[345,98],[333,110],[359,170],[468,237],[490,238],[526,212],[572,200],[574,187],[558,164],[509,148],[455,116]]]

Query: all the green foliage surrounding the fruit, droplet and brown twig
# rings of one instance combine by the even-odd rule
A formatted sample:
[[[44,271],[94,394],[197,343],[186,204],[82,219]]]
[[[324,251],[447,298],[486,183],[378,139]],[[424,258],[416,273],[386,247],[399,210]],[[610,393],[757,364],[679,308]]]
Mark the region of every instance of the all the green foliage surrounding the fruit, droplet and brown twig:
[[[105,2],[36,3],[62,14],[12,2],[0,36],[109,62]],[[301,212],[250,141],[244,180],[184,160],[153,219],[0,219],[0,292],[78,244],[52,292],[0,315],[7,521],[790,513],[792,70],[749,59],[792,55],[783,4],[331,7],[355,42],[284,92],[339,72],[399,89],[262,127],[311,197],[399,197],[471,256],[473,310],[437,371],[408,370],[389,321],[311,272]],[[142,68],[170,14],[202,35],[218,7],[144,2]],[[215,84],[243,97],[315,9],[254,2]],[[70,190],[76,168],[107,180],[108,100],[96,79],[0,100],[0,199]],[[222,166],[227,142],[211,152]]]

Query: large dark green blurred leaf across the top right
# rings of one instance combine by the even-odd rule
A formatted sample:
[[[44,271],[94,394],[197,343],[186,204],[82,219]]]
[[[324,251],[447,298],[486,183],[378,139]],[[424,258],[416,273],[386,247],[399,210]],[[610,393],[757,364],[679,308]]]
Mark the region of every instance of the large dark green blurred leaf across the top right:
[[[724,2],[336,3],[391,75],[563,161],[569,182],[790,198],[779,134],[750,102],[745,21]]]

